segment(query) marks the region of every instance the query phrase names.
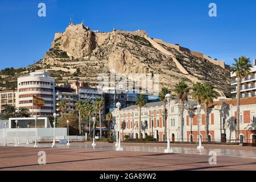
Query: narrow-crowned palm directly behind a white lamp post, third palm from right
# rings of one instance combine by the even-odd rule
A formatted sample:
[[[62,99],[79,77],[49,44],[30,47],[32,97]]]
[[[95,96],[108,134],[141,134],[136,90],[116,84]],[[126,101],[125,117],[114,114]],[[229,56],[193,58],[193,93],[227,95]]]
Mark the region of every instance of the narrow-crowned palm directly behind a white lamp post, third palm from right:
[[[191,96],[193,98],[193,100],[197,101],[197,104],[202,104],[203,101],[203,84],[201,84],[200,82],[196,82],[195,84],[193,84],[193,88],[192,88],[192,93]],[[199,113],[197,114],[197,132],[198,132],[198,139],[200,139],[199,136],[199,118],[200,115]]]

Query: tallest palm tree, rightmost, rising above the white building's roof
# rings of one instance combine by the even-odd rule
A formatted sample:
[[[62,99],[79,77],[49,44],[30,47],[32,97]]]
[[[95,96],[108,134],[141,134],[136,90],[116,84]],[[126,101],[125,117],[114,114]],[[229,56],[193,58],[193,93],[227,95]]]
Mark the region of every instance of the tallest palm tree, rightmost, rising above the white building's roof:
[[[240,93],[242,78],[250,74],[250,58],[241,56],[238,59],[234,59],[236,63],[231,67],[232,73],[236,73],[237,76],[237,140],[239,140],[240,134]]]

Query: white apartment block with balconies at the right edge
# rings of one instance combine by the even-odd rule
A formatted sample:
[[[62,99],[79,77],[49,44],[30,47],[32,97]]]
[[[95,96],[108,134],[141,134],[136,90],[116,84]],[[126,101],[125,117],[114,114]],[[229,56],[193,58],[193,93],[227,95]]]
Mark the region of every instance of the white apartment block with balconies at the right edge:
[[[230,73],[231,85],[237,86],[236,73]],[[236,93],[236,89],[232,89],[231,93]],[[251,73],[249,76],[242,79],[241,85],[241,97],[254,97],[256,96],[256,60],[253,60],[253,68],[251,68]]]

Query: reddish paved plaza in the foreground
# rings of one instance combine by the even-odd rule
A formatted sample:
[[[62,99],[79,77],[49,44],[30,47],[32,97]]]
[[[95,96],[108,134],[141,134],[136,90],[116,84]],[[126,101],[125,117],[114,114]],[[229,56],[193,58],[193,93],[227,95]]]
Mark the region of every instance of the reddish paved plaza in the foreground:
[[[50,143],[19,147],[0,147],[0,170],[256,170],[256,148],[240,146],[172,144],[174,154],[164,154],[166,144],[123,143],[125,151],[115,151],[114,144],[71,143],[68,148]],[[46,152],[46,164],[39,165],[39,151]],[[210,165],[210,151],[217,154],[217,164]]]

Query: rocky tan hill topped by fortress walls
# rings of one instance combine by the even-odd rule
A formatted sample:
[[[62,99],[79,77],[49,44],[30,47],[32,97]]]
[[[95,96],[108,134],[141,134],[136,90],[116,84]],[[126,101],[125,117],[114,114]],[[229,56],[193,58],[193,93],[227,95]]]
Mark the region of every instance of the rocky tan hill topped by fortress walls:
[[[145,31],[91,31],[81,24],[69,24],[63,33],[56,33],[51,48],[42,60],[16,72],[11,78],[44,70],[57,83],[86,81],[98,84],[98,73],[159,73],[160,86],[173,88],[184,80],[210,81],[220,92],[228,93],[229,71],[224,63],[199,52],[149,38]],[[3,80],[8,76],[0,72]],[[3,78],[5,77],[5,79]]]

